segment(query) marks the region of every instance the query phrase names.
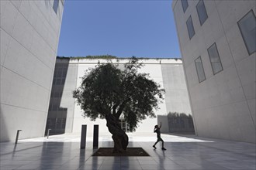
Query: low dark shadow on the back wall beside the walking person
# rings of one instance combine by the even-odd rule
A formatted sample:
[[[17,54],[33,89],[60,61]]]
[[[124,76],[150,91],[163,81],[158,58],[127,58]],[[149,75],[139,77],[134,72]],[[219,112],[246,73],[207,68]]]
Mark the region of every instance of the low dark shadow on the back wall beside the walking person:
[[[191,114],[169,112],[168,115],[158,115],[157,122],[162,122],[162,133],[195,134]],[[168,128],[167,128],[168,127]]]

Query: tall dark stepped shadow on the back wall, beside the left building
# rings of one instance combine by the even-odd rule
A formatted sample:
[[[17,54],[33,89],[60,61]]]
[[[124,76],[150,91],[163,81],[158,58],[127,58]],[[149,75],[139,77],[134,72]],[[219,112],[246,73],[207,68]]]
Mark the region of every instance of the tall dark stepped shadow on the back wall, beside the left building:
[[[67,108],[61,107],[61,99],[67,78],[68,64],[69,59],[62,59],[61,63],[55,65],[45,135],[47,135],[48,129],[50,129],[50,135],[65,133]]]

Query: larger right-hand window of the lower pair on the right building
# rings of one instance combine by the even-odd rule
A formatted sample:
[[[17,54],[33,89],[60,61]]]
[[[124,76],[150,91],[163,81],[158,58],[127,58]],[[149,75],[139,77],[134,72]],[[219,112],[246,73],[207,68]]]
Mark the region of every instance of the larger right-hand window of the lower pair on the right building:
[[[209,49],[207,49],[207,51],[209,54],[209,60],[212,64],[213,74],[219,73],[220,71],[223,70],[223,67],[220,61],[220,56],[219,56],[216,43],[213,43],[213,45],[210,46]]]

